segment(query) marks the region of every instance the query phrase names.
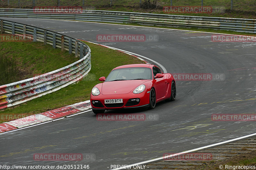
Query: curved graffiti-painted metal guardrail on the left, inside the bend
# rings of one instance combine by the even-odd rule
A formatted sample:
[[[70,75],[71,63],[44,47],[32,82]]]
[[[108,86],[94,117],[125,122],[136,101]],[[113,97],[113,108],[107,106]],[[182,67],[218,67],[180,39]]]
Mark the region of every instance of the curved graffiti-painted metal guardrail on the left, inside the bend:
[[[55,92],[82,79],[91,70],[91,49],[81,41],[35,26],[0,20],[1,34],[9,33],[32,37],[33,41],[50,44],[53,48],[74,53],[80,60],[58,70],[0,86],[0,109]]]

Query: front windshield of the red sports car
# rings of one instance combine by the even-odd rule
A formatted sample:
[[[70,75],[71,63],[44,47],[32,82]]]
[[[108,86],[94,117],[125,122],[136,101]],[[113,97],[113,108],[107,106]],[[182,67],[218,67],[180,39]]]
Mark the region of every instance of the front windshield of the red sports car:
[[[121,81],[121,80],[149,80],[152,79],[152,71],[146,67],[130,67],[116,69],[109,73],[106,81]]]

